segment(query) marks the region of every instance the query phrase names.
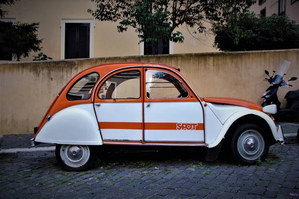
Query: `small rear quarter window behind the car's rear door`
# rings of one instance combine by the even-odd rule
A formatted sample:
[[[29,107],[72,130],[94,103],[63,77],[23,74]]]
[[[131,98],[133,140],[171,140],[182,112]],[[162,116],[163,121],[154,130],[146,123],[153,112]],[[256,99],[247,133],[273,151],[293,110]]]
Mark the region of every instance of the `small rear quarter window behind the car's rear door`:
[[[88,100],[92,89],[99,80],[99,74],[92,73],[79,79],[66,95],[68,100]]]

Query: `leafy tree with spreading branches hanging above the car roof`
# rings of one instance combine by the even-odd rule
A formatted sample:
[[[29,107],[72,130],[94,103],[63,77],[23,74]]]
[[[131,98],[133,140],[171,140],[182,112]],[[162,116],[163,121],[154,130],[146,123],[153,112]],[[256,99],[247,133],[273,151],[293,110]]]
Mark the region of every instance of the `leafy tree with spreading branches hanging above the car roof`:
[[[226,21],[238,12],[247,12],[256,0],[92,0],[96,9],[88,9],[100,21],[119,21],[118,32],[136,29],[140,42],[173,41],[184,37],[175,31],[180,25],[196,27],[193,33],[206,31],[205,21]]]

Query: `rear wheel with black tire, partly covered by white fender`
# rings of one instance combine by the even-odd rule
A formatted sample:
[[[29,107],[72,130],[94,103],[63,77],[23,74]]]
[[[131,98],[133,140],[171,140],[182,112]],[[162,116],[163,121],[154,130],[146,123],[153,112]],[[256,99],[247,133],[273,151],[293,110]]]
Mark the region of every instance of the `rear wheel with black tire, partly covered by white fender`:
[[[78,147],[81,150],[85,151],[85,156],[82,157],[83,161],[79,163],[72,163],[70,158],[67,158],[65,152],[66,149],[73,149],[71,147]],[[63,170],[66,171],[86,171],[91,169],[96,160],[96,147],[95,146],[86,146],[86,145],[61,145],[57,144],[55,148],[55,155],[58,161],[58,164],[61,166]],[[86,155],[88,154],[88,155]],[[83,155],[82,155],[83,156]],[[76,160],[75,160],[76,161]],[[77,164],[77,165],[76,165]]]

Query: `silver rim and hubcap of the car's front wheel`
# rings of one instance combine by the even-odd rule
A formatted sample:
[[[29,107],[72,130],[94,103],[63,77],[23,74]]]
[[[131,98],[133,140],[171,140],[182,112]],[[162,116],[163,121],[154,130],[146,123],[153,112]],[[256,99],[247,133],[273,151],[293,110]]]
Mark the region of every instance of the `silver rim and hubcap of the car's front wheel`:
[[[247,130],[238,139],[238,152],[246,160],[258,159],[264,149],[264,137],[256,130]]]

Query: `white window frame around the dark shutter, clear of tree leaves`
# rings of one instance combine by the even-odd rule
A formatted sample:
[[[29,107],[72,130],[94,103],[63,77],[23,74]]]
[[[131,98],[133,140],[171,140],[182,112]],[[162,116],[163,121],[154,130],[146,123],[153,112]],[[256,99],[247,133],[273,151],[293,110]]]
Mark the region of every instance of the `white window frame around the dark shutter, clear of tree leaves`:
[[[89,58],[94,57],[94,35],[95,35],[95,19],[60,19],[61,38],[60,38],[60,59],[65,56],[65,23],[90,23],[89,32]]]

